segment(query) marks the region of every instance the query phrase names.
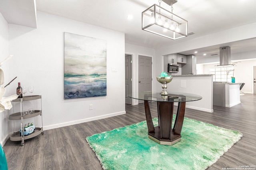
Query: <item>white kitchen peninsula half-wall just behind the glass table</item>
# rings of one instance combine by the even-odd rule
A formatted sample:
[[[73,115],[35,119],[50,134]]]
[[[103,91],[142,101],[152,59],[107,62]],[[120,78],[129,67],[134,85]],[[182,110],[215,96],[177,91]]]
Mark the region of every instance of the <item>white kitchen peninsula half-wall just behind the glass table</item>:
[[[213,112],[213,74],[173,75],[167,84],[167,91],[193,93],[202,96],[202,100],[189,102],[186,107]]]

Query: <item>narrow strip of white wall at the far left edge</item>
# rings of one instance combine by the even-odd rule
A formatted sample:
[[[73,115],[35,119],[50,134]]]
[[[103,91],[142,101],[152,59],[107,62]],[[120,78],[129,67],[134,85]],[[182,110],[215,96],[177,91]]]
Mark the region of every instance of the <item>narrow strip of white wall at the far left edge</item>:
[[[8,56],[8,23],[0,13],[0,62]],[[5,72],[5,82],[2,86],[8,84],[8,63],[9,61],[4,63],[4,65],[1,67]],[[8,90],[8,86],[6,87],[6,90]],[[7,95],[4,95],[4,97],[6,96]],[[6,137],[8,136],[8,111],[3,111],[0,113],[0,132],[0,143],[3,145],[7,140]]]

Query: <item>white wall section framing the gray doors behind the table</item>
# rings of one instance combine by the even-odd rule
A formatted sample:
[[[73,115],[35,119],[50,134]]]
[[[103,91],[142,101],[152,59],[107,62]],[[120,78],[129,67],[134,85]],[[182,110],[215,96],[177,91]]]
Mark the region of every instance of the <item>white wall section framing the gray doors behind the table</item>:
[[[132,92],[138,92],[138,56],[143,55],[147,57],[152,57],[152,89],[154,89],[154,70],[155,68],[155,49],[150,49],[147,47],[142,47],[138,45],[133,45],[129,43],[125,43],[125,53],[132,55]],[[138,100],[132,100],[132,104],[138,104]]]

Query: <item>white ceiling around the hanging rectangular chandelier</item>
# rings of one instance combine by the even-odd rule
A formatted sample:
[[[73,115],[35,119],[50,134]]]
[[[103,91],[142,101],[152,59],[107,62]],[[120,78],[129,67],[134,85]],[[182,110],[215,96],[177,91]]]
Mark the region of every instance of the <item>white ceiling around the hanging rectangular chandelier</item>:
[[[28,10],[26,8],[20,8],[20,3],[15,3],[19,1],[0,0],[0,12],[9,23],[14,23],[10,20],[10,16],[12,18],[15,18],[13,15],[21,16],[17,14],[20,12],[24,15],[24,22],[31,21],[30,25],[33,25],[35,20],[28,19],[33,14],[26,12]],[[256,22],[256,0],[178,0],[173,5],[173,13],[187,20],[188,32],[194,34],[171,40],[141,29],[142,11],[153,4],[158,4],[158,0],[26,0],[22,2],[23,6],[28,3],[29,8],[31,8],[31,2],[36,2],[36,8],[39,11],[125,33],[126,43],[154,49]],[[4,6],[10,3],[11,6],[16,4],[20,11],[15,8],[15,14],[11,11],[6,14],[8,11]],[[170,6],[164,2],[161,6],[170,10]],[[128,20],[128,15],[132,15],[133,19]],[[21,21],[22,19],[18,17],[17,22]],[[29,23],[27,24],[30,26]],[[219,53],[220,46],[227,45],[231,47],[231,53],[252,51],[256,49],[256,39],[197,50],[202,53],[206,50],[208,54],[214,54]],[[189,55],[194,51],[181,53]],[[200,55],[201,53],[197,54],[197,56]]]

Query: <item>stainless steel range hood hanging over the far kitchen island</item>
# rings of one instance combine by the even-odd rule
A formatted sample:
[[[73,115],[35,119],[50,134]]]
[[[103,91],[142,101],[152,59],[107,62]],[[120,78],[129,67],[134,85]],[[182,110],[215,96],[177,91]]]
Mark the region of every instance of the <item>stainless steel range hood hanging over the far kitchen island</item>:
[[[229,46],[220,47],[220,65],[218,66],[235,66],[235,64],[231,64],[231,52]]]

